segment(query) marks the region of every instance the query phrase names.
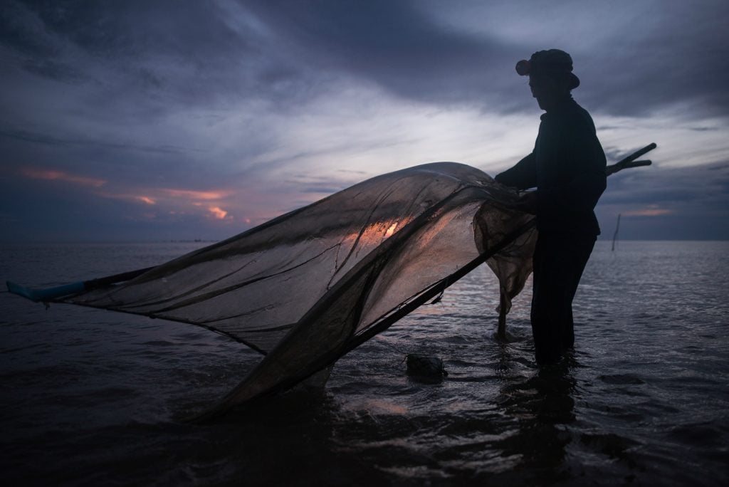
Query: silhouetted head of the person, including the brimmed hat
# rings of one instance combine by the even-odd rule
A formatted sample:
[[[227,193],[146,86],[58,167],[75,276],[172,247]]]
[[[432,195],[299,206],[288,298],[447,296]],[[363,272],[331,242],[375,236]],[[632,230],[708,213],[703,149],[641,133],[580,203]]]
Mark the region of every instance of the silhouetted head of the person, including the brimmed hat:
[[[534,52],[529,61],[516,63],[516,72],[529,76],[531,95],[542,110],[549,111],[580,86],[580,79],[572,73],[572,58],[558,49]]]

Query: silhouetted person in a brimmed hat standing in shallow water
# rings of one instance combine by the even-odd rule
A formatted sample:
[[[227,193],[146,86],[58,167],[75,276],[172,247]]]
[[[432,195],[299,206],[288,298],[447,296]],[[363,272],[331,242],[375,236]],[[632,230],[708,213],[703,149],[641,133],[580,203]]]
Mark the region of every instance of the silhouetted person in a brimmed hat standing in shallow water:
[[[600,234],[593,209],[605,190],[605,154],[590,114],[572,99],[580,85],[564,51],[534,52],[516,71],[529,76],[542,114],[534,150],[496,181],[519,190],[537,218],[531,330],[539,365],[557,362],[574,344],[572,299]]]

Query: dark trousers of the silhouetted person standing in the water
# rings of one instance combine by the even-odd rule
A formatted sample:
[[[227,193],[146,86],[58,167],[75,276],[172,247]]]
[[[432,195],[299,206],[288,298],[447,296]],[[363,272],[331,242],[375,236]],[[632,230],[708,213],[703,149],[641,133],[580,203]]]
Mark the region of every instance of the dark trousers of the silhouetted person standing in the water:
[[[531,297],[531,332],[539,365],[557,362],[574,345],[572,299],[594,245],[593,235],[539,233]]]

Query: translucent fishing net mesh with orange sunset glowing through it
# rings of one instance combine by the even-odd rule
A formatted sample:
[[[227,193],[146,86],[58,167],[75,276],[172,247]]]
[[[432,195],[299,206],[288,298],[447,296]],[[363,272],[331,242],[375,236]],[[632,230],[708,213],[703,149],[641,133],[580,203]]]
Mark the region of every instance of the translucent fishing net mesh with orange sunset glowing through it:
[[[265,354],[219,412],[332,365],[490,252],[517,295],[536,236],[517,198],[468,165],[419,165],[63,301],[198,324]]]

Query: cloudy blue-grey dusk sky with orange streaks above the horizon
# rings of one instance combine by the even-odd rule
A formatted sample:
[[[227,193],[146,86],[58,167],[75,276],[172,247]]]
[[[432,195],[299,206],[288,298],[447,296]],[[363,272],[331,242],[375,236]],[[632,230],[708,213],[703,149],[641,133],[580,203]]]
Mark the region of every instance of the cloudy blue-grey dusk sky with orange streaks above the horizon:
[[[362,179],[494,175],[572,54],[609,160],[603,238],[729,239],[729,2],[15,1],[0,6],[0,240],[219,239]]]

